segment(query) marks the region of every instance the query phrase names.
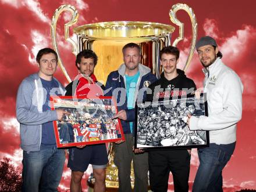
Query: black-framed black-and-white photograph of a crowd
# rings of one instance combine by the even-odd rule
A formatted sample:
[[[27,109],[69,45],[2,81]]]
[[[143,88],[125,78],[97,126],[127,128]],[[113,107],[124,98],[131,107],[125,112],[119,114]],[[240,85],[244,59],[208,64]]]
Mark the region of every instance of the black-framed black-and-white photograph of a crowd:
[[[190,131],[186,123],[189,113],[208,116],[206,95],[137,103],[134,147],[143,150],[208,147],[209,132]]]

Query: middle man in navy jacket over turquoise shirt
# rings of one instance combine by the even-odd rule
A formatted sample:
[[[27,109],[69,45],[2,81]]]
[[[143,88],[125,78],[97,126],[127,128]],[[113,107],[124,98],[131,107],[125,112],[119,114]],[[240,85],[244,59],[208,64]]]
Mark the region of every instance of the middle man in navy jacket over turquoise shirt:
[[[134,191],[148,191],[148,153],[138,149],[134,150],[134,123],[135,103],[145,99],[147,86],[157,78],[150,73],[150,68],[140,64],[141,49],[134,43],[123,47],[123,60],[118,71],[108,75],[106,81],[106,96],[115,96],[118,103],[118,114],[114,118],[120,118],[125,142],[115,144],[114,162],[118,167],[119,191],[131,191],[130,171],[131,160],[134,169]]]

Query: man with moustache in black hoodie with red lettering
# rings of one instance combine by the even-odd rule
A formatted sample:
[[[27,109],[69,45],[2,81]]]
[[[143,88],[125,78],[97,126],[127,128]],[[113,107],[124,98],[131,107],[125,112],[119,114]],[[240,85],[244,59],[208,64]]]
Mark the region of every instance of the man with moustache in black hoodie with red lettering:
[[[168,99],[186,96],[194,92],[195,84],[176,68],[179,62],[179,49],[168,46],[160,52],[163,73],[158,81],[149,86],[152,94],[147,100]],[[175,191],[189,191],[191,150],[155,150],[148,153],[150,186],[152,191],[167,191],[169,173],[172,172]]]

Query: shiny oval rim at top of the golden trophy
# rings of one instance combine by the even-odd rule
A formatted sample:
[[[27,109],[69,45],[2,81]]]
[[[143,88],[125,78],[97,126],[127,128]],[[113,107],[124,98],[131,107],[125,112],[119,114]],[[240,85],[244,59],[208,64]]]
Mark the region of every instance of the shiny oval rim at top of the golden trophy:
[[[93,35],[88,35],[81,33],[80,31],[83,30],[89,30],[91,28],[104,28],[106,26],[116,26],[116,25],[123,25],[123,26],[134,26],[136,24],[137,26],[142,26],[143,24],[147,26],[152,27],[158,27],[162,30],[165,30],[166,32],[161,32],[159,34],[152,34],[152,35],[137,35],[133,37],[97,37]],[[141,27],[143,28],[143,27]],[[147,21],[104,21],[99,23],[90,23],[90,24],[84,24],[83,26],[75,27],[73,28],[74,34],[79,35],[81,37],[87,37],[91,39],[127,39],[127,38],[151,38],[151,37],[163,37],[169,34],[172,34],[172,32],[175,31],[175,27],[169,25],[169,24],[163,24],[163,23],[155,23],[155,22],[147,22]]]

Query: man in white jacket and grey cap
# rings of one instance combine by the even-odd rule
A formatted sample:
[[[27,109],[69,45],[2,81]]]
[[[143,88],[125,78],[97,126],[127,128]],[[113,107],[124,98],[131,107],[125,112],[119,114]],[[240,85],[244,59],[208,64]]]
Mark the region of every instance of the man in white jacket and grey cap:
[[[200,165],[193,191],[223,191],[222,170],[236,145],[236,127],[242,114],[243,84],[239,76],[222,63],[215,39],[206,36],[195,45],[205,68],[204,92],[207,93],[208,117],[188,115],[191,131],[209,131],[209,147],[198,149]]]

